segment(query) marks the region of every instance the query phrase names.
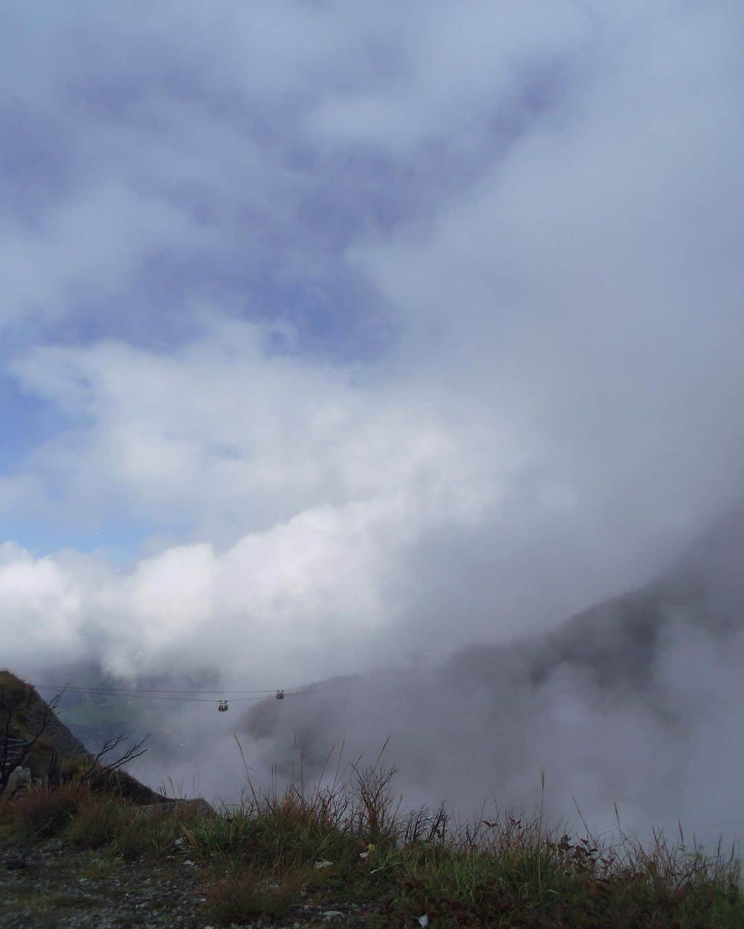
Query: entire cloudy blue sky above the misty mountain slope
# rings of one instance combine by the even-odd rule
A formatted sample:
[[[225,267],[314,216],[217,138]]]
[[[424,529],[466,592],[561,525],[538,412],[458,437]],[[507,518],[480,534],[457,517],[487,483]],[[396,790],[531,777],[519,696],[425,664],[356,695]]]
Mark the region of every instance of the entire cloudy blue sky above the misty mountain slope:
[[[741,498],[736,0],[2,20],[9,667],[421,667]]]

